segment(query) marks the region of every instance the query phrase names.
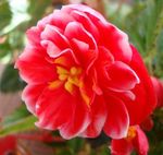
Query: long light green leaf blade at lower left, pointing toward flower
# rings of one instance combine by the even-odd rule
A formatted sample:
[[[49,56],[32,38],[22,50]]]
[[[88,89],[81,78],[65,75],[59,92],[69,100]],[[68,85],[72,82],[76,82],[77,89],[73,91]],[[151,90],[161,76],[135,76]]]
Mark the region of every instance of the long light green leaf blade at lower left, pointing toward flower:
[[[15,122],[3,126],[2,129],[0,130],[0,136],[35,129],[36,128],[34,124],[35,121],[36,121],[36,118],[34,116],[29,116],[29,117],[20,119]]]

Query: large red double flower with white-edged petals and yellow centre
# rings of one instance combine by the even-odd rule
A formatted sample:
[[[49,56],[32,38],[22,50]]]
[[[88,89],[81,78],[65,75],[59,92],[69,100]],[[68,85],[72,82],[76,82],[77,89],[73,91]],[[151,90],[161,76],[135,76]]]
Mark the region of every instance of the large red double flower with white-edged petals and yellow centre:
[[[23,99],[40,128],[65,139],[124,138],[153,109],[151,80],[128,37],[95,10],[71,4],[27,31],[16,61]]]

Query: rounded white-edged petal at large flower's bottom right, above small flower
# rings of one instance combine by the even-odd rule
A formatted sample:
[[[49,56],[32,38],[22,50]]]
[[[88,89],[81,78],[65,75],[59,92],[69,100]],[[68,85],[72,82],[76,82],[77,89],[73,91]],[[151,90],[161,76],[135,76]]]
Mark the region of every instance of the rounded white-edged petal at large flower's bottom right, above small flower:
[[[104,132],[112,139],[122,139],[127,135],[129,117],[124,103],[117,98],[105,98],[108,118],[104,124]]]

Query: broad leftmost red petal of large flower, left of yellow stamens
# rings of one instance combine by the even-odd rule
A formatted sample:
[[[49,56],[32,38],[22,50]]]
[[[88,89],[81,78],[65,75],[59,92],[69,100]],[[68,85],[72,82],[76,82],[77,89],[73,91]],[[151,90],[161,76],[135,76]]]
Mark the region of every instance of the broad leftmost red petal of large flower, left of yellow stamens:
[[[15,64],[22,79],[33,84],[54,80],[57,76],[54,67],[46,60],[46,57],[45,51],[27,46]]]

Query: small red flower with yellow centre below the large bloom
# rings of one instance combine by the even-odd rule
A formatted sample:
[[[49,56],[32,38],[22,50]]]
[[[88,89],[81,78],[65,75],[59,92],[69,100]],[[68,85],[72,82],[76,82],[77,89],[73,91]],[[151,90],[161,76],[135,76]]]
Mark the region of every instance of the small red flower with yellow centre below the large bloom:
[[[129,127],[127,138],[112,140],[112,155],[130,155],[133,151],[138,155],[147,155],[149,150],[148,139],[139,126]]]

